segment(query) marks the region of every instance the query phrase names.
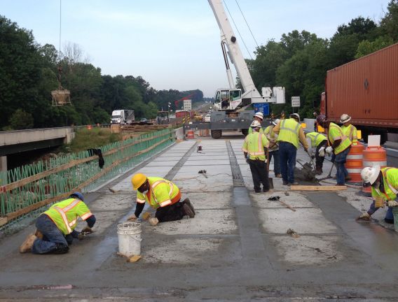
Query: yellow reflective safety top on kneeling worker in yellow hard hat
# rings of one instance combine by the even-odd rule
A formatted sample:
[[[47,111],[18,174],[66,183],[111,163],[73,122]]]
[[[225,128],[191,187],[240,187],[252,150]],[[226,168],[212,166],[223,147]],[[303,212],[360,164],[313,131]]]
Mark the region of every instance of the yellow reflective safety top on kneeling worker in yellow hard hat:
[[[145,203],[157,209],[159,207],[169,206],[172,199],[179,194],[179,188],[170,180],[163,178],[149,177],[149,192],[142,194],[137,191],[137,203]]]

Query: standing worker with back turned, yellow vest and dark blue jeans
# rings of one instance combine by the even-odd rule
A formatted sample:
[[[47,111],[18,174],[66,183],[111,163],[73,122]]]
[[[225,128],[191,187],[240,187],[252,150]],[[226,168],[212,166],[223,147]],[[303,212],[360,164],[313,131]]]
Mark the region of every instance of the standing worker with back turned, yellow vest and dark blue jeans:
[[[280,154],[280,171],[282,172],[283,185],[299,185],[294,181],[294,167],[296,166],[297,149],[299,141],[304,150],[308,151],[308,143],[303,128],[301,128],[300,115],[292,113],[287,120],[281,120],[273,129],[278,134]]]

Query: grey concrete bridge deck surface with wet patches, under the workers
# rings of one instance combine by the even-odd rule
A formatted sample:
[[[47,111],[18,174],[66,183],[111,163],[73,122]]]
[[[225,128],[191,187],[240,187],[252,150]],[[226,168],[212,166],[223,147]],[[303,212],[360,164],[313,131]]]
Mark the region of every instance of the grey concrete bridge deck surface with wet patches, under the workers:
[[[355,189],[294,192],[279,178],[271,192],[255,194],[242,139],[172,145],[85,194],[96,232],[68,254],[19,254],[33,226],[1,240],[0,301],[398,301],[398,233],[375,221],[355,222],[371,200]],[[298,157],[308,155],[299,150]],[[273,176],[273,163],[270,170]],[[142,222],[142,259],[132,264],[116,254],[116,226],[134,211],[130,178],[137,171],[169,175],[196,216],[158,227]],[[271,196],[296,211],[268,201]]]

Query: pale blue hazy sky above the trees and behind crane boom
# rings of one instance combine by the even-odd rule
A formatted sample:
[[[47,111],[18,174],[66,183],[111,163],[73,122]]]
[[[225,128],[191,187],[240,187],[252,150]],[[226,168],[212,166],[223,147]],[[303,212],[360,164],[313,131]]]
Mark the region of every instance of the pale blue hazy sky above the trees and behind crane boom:
[[[322,38],[362,15],[378,22],[389,0],[238,0],[259,45],[297,29]],[[225,0],[249,58],[256,42],[237,5]],[[60,0],[0,0],[0,15],[59,48]],[[230,19],[231,21],[231,19]],[[232,23],[232,22],[231,22]],[[219,28],[207,0],[62,0],[61,44],[77,43],[102,74],[141,75],[155,89],[228,87]]]

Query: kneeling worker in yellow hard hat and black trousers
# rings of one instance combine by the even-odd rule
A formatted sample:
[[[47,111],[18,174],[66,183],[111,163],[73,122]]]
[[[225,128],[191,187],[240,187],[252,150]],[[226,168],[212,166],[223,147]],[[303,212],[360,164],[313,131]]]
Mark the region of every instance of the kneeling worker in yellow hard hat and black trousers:
[[[159,222],[181,220],[188,215],[195,217],[195,209],[189,199],[181,200],[181,192],[170,180],[158,177],[146,177],[137,173],[131,179],[132,188],[137,190],[137,205],[135,213],[128,220],[137,220],[144,209],[145,202],[156,209],[155,217],[149,218],[149,223],[155,227]]]

